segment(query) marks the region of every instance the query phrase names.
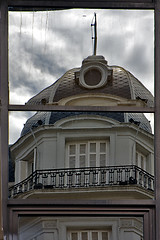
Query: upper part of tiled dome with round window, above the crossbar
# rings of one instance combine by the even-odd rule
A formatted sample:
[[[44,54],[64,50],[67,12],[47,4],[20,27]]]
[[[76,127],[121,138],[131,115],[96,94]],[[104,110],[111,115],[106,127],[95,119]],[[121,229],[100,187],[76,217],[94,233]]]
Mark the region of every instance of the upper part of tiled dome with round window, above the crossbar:
[[[102,80],[94,87],[93,76],[98,71]],[[107,76],[103,78],[106,72]],[[89,74],[92,74],[92,77]],[[85,77],[86,79],[88,77],[88,82],[91,78],[93,83],[89,82],[87,85]],[[153,106],[152,94],[137,78],[122,67],[108,66],[102,56],[88,57],[82,62],[81,68],[67,71],[55,83],[31,98],[27,104],[58,104],[64,98],[81,94],[105,94],[127,100],[138,99],[145,102],[148,107]]]

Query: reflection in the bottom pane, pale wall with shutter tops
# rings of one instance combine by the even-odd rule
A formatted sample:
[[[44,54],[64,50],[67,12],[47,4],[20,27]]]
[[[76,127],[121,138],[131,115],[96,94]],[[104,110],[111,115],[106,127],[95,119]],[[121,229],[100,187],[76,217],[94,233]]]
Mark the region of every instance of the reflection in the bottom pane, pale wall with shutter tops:
[[[19,240],[143,240],[141,217],[20,217]]]

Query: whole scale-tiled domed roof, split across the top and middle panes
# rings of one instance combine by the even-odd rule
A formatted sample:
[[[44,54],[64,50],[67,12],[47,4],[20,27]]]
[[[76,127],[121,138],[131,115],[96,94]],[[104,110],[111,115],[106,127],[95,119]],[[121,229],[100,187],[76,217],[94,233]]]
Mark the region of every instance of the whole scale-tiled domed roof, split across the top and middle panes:
[[[81,68],[67,71],[55,83],[31,98],[26,104],[56,104],[63,99],[76,96],[98,95],[117,97],[127,101],[140,101],[145,106],[153,106],[154,99],[150,91],[130,72],[119,66],[108,66],[102,56],[90,56],[82,62]],[[147,132],[151,126],[142,113],[123,112],[37,112],[27,120],[21,136],[33,127],[51,125],[56,121],[76,115],[98,115],[114,119],[120,123],[140,124]]]

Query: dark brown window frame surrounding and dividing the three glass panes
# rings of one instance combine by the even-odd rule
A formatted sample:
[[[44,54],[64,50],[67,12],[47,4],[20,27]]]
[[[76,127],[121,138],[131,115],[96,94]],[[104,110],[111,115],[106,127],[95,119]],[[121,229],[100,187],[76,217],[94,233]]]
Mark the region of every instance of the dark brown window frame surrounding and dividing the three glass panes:
[[[63,8],[116,8],[152,9],[155,11],[155,107],[63,107],[10,105],[8,101],[8,9],[34,10]],[[17,239],[18,217],[34,214],[60,214],[98,216],[106,214],[122,216],[142,216],[144,219],[144,239],[160,239],[160,0],[100,0],[100,1],[58,1],[58,0],[1,0],[0,2],[0,159],[1,159],[1,198],[3,209],[3,229],[6,239]],[[151,112],[155,114],[155,200],[136,201],[96,201],[61,202],[41,200],[8,200],[8,111],[123,111]],[[103,210],[103,211],[102,211]],[[1,211],[2,212],[2,211]],[[1,221],[1,219],[0,219]],[[9,224],[8,224],[9,221]]]

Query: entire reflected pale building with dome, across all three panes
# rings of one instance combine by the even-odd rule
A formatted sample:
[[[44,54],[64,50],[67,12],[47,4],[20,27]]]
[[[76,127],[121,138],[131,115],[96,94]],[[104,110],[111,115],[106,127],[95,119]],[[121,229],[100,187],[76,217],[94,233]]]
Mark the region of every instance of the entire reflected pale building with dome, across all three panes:
[[[27,104],[153,106],[153,96],[130,72],[89,56]],[[11,146],[15,183],[10,198],[153,199],[154,146],[143,113],[37,112]],[[31,218],[20,239],[143,239],[141,218]],[[63,237],[63,238],[62,238]]]

